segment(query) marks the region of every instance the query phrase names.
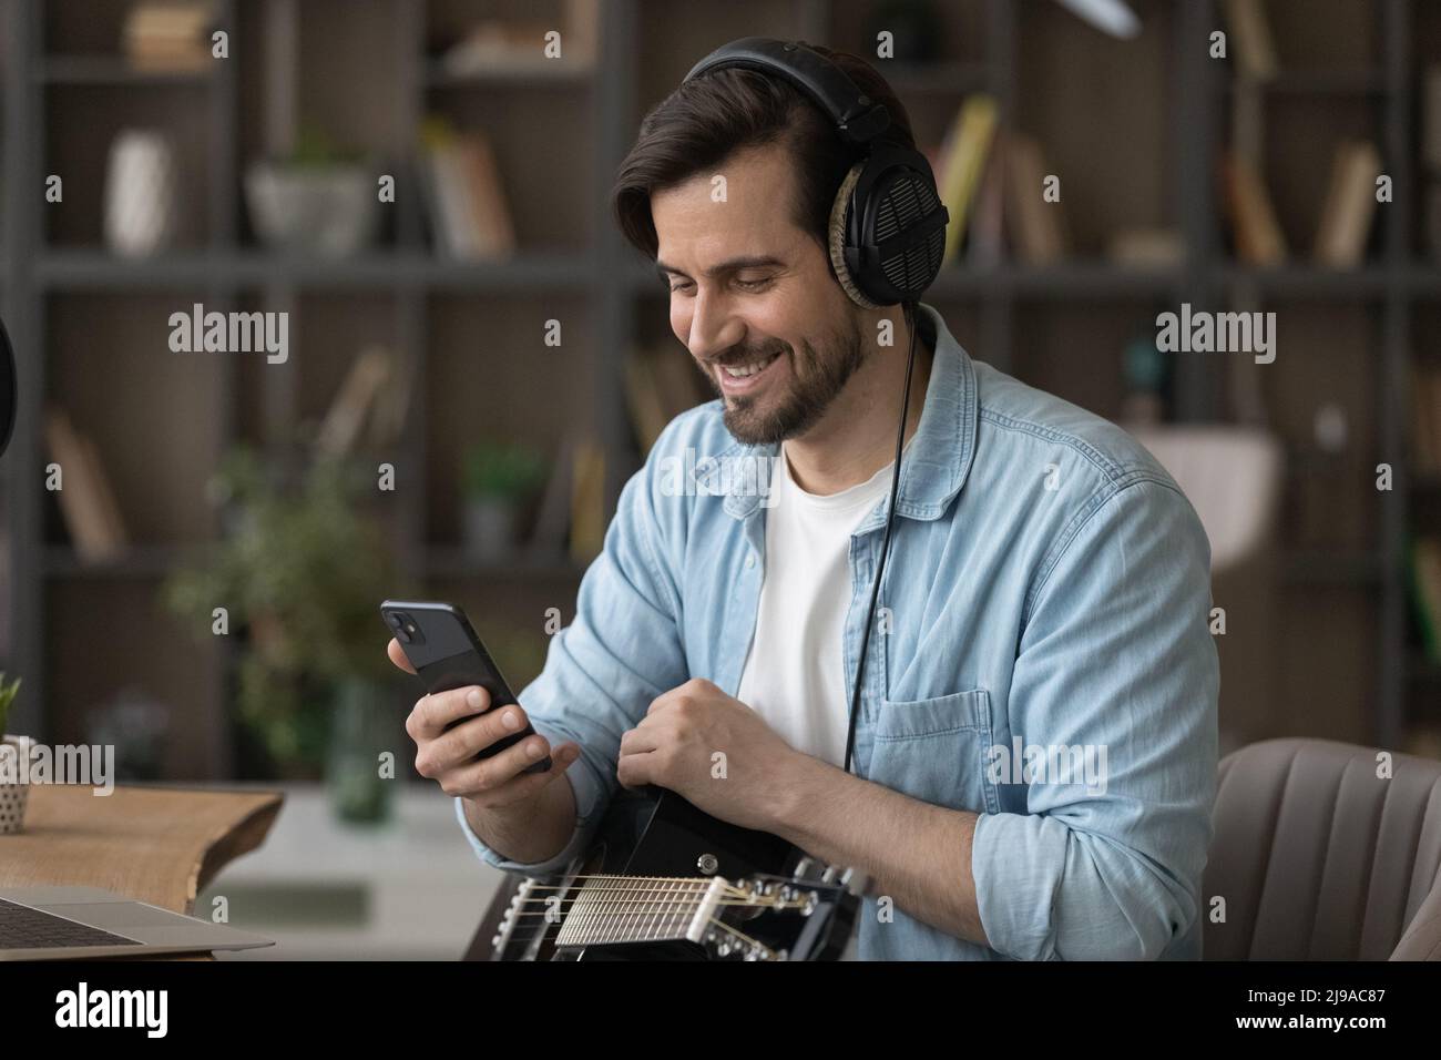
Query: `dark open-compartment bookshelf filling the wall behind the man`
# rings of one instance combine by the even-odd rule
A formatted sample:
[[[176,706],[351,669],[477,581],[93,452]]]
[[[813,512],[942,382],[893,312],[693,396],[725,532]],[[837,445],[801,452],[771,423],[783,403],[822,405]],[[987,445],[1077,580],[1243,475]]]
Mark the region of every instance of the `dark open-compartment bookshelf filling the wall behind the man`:
[[[576,343],[576,371],[586,387],[584,394],[572,395],[575,407],[568,414],[584,415],[602,443],[605,503],[607,512],[614,512],[621,486],[640,461],[625,410],[623,358],[637,343],[674,343],[664,322],[660,283],[624,244],[608,215],[610,179],[640,117],[690,62],[736,36],[785,35],[866,53],[870,9],[862,0],[706,4],[703,10],[679,10],[663,0],[599,1],[605,10],[594,69],[445,71],[428,50],[429,30],[438,22],[496,13],[481,3],[383,0],[359,7],[342,0],[225,0],[220,10],[231,30],[231,59],[205,74],[153,75],[130,71],[115,53],[115,4],[0,0],[6,29],[0,72],[0,307],[22,362],[20,423],[0,469],[10,524],[13,639],[0,663],[23,673],[27,688],[14,725],[42,738],[73,736],[66,725],[86,704],[50,695],[63,688],[55,681],[55,643],[75,642],[75,630],[65,623],[73,622],[76,611],[89,606],[86,601],[102,606],[115,586],[130,594],[127,606],[138,607],[143,590],[195,544],[140,541],[121,560],[88,565],[56,534],[53,512],[46,513],[50,502],[43,490],[48,456],[40,410],[48,395],[71,385],[55,378],[62,355],[76,356],[58,349],[58,314],[95,307],[101,320],[124,324],[127,310],[117,299],[173,297],[186,304],[182,299],[195,297],[208,309],[290,309],[293,358],[305,322],[343,322],[346,300],[363,319],[385,322],[382,337],[408,355],[416,379],[396,454],[396,463],[409,469],[409,480],[393,512],[409,573],[437,591],[461,586],[497,601],[497,607],[513,606],[516,622],[533,622],[539,601],[574,607],[574,586],[584,567],[569,558],[517,557],[513,562],[481,564],[454,542],[455,487],[441,480],[448,469],[435,457],[450,450],[441,444],[437,424],[461,421],[455,402],[464,395],[447,385],[454,378],[447,359],[465,349],[467,327],[477,314],[494,313],[503,322],[509,348],[525,348],[526,329],[552,316],[563,316],[568,329],[578,329],[584,340]],[[1419,0],[1369,0],[1356,16],[1366,27],[1359,43],[1336,45],[1326,39],[1324,25],[1308,25],[1294,53],[1282,49],[1280,75],[1259,87],[1262,107],[1298,108],[1314,121],[1339,107],[1365,124],[1393,176],[1396,202],[1378,211],[1372,254],[1359,268],[1313,267],[1304,241],[1293,245],[1291,264],[1254,268],[1228,258],[1213,179],[1228,137],[1226,111],[1238,92],[1232,66],[1206,56],[1209,32],[1225,27],[1218,4],[1137,0],[1136,6],[1146,25],[1141,39],[1111,42],[1049,0],[958,0],[941,6],[942,58],[929,63],[878,63],[912,108],[922,138],[938,140],[967,94],[993,94],[1001,121],[1036,136],[1048,149],[1048,160],[1066,182],[1068,216],[1081,228],[1072,261],[1050,268],[1014,262],[978,268],[963,255],[957,267],[942,273],[927,300],[954,322],[957,337],[978,359],[1112,418],[1118,392],[1110,382],[1082,378],[1097,375],[1094,368],[1066,361],[1068,336],[1075,336],[1075,356],[1111,358],[1101,362],[1110,372],[1121,355],[1112,336],[1134,330],[1159,309],[1180,301],[1197,309],[1231,309],[1238,299],[1254,301],[1257,309],[1323,304],[1342,314],[1356,335],[1369,336],[1359,340],[1365,342],[1360,348],[1347,346],[1331,356],[1366,358],[1373,365],[1373,392],[1366,397],[1365,415],[1357,417],[1368,423],[1359,444],[1366,453],[1385,454],[1406,485],[1373,499],[1379,511],[1368,539],[1344,549],[1287,549],[1278,591],[1294,611],[1314,610],[1317,599],[1340,599],[1347,613],[1375,617],[1357,620],[1355,627],[1362,642],[1357,658],[1369,675],[1363,717],[1355,724],[1337,723],[1331,734],[1393,746],[1415,714],[1418,686],[1435,688],[1434,673],[1411,661],[1404,542],[1412,496],[1435,490],[1437,485],[1405,477],[1402,428],[1408,415],[1402,381],[1412,350],[1425,337],[1417,335],[1422,330],[1417,327],[1417,307],[1441,297],[1441,267],[1417,248],[1419,205],[1406,190],[1419,186],[1412,180],[1415,78],[1425,63],[1441,61],[1441,45],[1424,32],[1434,19]],[[536,7],[545,13],[559,10],[543,3]],[[327,52],[316,43],[316,27],[339,20],[346,23],[342,43]],[[1277,36],[1298,20],[1304,20],[1304,6],[1278,4],[1272,23]],[[1336,32],[1349,32],[1347,25]],[[110,52],[102,50],[107,40]],[[291,43],[275,46],[277,40]],[[1074,59],[1076,68],[1055,69],[1058,55]],[[347,104],[323,91],[329,82],[350,84],[354,71],[365,71],[369,85],[357,89],[359,101]],[[1114,121],[1134,134],[1130,160],[1091,157],[1087,128],[1078,127],[1079,104],[1062,91],[1066,78],[1087,78],[1097,71],[1114,76],[1114,114],[1081,117]],[[275,108],[267,101],[284,94],[290,94],[291,105],[281,108],[285,117],[275,127]],[[205,128],[205,137],[189,144],[184,156],[205,175],[205,199],[196,218],[203,231],[199,245],[144,261],[117,260],[101,248],[95,225],[81,231],[85,225],[65,222],[55,211],[37,206],[56,137],[85,133],[78,118],[85,108],[76,102],[82,97],[95,101],[101,117],[151,111],[166,117],[189,108],[187,120]],[[1160,98],[1166,102],[1156,101]],[[288,258],[267,252],[249,235],[238,175],[245,163],[268,153],[277,137],[282,141],[294,133],[303,104],[316,111],[310,117],[360,137],[360,146],[398,166],[402,193],[385,239],[360,257]],[[464,264],[435,257],[411,166],[419,121],[429,112],[454,117],[461,127],[486,125],[491,118],[499,123],[497,154],[507,190],[516,187],[519,203],[513,206],[537,234],[529,244],[522,241],[513,260]],[[559,133],[548,133],[550,128]],[[1075,133],[1068,133],[1071,128]],[[574,172],[562,175],[566,192],[550,192],[559,203],[555,216],[535,205],[535,189],[550,189],[545,182],[556,176],[553,163],[546,162],[549,156],[537,150],[543,146],[537,137],[546,134],[578,137]],[[1092,162],[1114,185],[1107,195],[1087,185],[1084,170]],[[1324,190],[1326,176],[1320,172],[1310,179]],[[66,200],[98,196],[99,187],[98,175],[76,176],[73,182],[68,175]],[[98,216],[98,206],[89,209]],[[1161,268],[1107,261],[1098,238],[1118,221],[1179,229],[1186,258]],[[1079,322],[1095,323],[1099,337],[1082,335],[1089,329],[1078,329]],[[311,333],[316,329],[320,324]],[[205,369],[203,399],[213,415],[206,420],[203,437],[187,438],[196,447],[195,460],[203,461],[236,441],[269,446],[304,418],[317,387],[316,372],[329,379],[356,352],[354,343],[337,340],[317,342],[317,349],[321,352],[307,355],[305,365],[288,372],[261,371],[233,355]],[[520,355],[497,356],[514,361]],[[527,384],[525,365],[510,363],[504,371],[504,379],[514,385],[514,421],[536,420],[530,412],[552,395]],[[1228,417],[1225,382],[1213,362],[1177,358],[1172,414],[1182,423]],[[115,415],[138,412],[121,404]],[[1278,420],[1284,417],[1278,414]],[[536,423],[545,423],[543,417]],[[108,424],[105,434],[122,437],[122,428]],[[27,502],[20,503],[20,498]],[[197,511],[203,506],[199,496],[190,500]],[[196,521],[203,522],[200,516]],[[205,528],[203,536],[210,539],[223,532],[213,521]],[[127,619],[135,619],[134,610],[117,616]],[[187,702],[200,715],[196,725],[215,734],[186,750],[187,767],[196,777],[222,776],[232,763],[226,744],[232,650],[216,646],[215,658],[199,668],[205,681]],[[1293,643],[1285,658],[1303,652],[1304,645]],[[1282,663],[1277,659],[1274,665],[1280,669]],[[1293,717],[1298,712],[1290,711]]]

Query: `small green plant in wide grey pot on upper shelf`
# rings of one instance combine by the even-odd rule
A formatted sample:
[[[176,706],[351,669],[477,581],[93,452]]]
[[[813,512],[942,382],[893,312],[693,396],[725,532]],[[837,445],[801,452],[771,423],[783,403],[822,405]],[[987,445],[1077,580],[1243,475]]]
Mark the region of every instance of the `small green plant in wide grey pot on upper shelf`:
[[[301,125],[290,154],[245,170],[255,234],[267,247],[291,254],[349,257],[365,249],[380,218],[376,169],[316,125]]]

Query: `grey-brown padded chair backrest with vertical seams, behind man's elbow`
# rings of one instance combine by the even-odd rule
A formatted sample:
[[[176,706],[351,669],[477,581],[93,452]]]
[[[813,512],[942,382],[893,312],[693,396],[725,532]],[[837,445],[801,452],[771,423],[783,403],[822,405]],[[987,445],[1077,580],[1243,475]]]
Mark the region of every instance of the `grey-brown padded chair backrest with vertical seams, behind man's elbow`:
[[[1392,754],[1385,776],[1379,754],[1290,738],[1222,759],[1205,959],[1441,960],[1441,761]]]

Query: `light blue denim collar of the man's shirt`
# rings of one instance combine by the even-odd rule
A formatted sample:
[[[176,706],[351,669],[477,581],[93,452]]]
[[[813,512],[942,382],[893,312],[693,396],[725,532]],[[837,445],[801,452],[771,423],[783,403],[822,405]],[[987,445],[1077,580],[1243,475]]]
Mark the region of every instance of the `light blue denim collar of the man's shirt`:
[[[931,363],[931,379],[927,384],[925,404],[915,438],[901,461],[901,486],[896,490],[896,513],[912,519],[937,519],[951,499],[961,492],[965,476],[976,457],[976,421],[978,395],[976,368],[970,356],[945,326],[945,320],[931,306],[919,303],[935,329],[935,358]],[[769,446],[748,446],[736,441],[720,454],[731,457],[769,457],[780,454],[780,443]],[[771,467],[768,461],[764,464]],[[889,500],[889,490],[886,499]],[[759,505],[754,489],[731,492],[725,498],[725,511],[736,519],[745,519]],[[885,503],[856,528],[857,534],[879,526],[886,518]]]

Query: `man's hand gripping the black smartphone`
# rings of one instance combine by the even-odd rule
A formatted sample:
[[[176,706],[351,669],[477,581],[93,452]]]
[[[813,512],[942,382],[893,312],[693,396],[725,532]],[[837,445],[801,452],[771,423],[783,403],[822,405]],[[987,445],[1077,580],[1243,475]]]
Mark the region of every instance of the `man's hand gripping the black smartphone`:
[[[386,650],[391,662],[406,673],[415,673],[395,637]],[[552,750],[550,741],[535,733],[488,759],[476,757],[526,724],[529,718],[520,704],[504,704],[491,711],[490,694],[480,685],[471,685],[431,692],[418,699],[405,720],[405,731],[415,740],[415,769],[421,776],[435,780],[447,795],[458,795],[480,809],[497,811],[533,802],[581,754],[575,743]],[[522,772],[546,754],[552,760],[549,770]]]

